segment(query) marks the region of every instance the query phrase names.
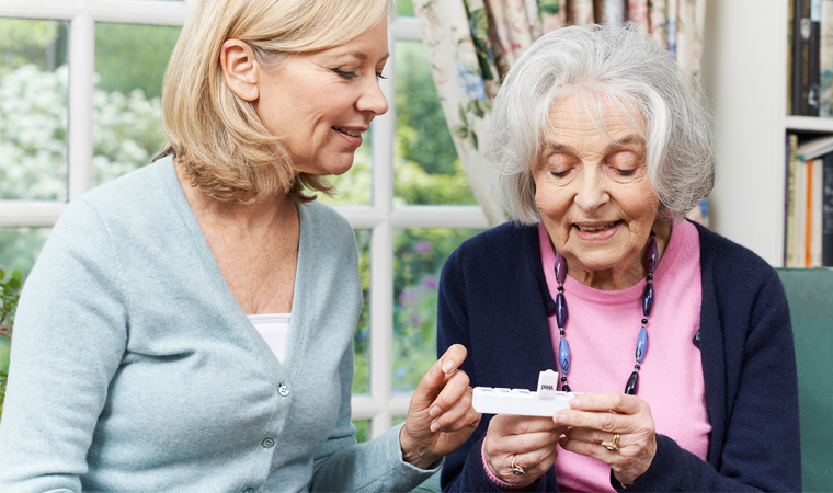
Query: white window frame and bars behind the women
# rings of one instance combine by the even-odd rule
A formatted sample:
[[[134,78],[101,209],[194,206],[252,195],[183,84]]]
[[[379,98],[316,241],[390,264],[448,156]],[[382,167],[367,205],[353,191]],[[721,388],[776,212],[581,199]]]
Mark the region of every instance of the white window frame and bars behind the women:
[[[189,0],[0,0],[0,18],[69,21],[68,199],[92,188],[92,98],[95,23],[114,22],[181,26]],[[421,41],[415,19],[399,18],[390,28],[387,80],[381,81],[388,101],[396,101],[397,41]],[[393,343],[393,232],[407,228],[486,229],[479,206],[393,205],[393,136],[396,105],[373,122],[373,202],[369,206],[336,209],[354,229],[370,230],[370,390],[353,397],[353,419],[369,420],[369,437],[390,428],[395,417],[408,412],[410,395],[392,393]],[[52,227],[65,202],[0,200],[0,227]],[[429,368],[414,368],[424,372]]]

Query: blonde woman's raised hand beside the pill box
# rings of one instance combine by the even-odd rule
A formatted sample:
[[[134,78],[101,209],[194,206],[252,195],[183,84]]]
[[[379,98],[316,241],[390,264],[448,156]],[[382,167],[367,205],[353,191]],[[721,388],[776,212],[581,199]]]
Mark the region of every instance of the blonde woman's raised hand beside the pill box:
[[[468,352],[455,344],[422,377],[411,397],[399,444],[406,462],[427,469],[463,445],[480,423],[471,406],[471,388],[457,367]]]

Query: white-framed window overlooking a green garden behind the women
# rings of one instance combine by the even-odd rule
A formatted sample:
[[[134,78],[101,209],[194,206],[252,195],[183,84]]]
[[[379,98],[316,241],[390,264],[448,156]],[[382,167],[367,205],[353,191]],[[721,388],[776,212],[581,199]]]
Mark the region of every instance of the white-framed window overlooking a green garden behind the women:
[[[487,227],[454,151],[410,0],[399,0],[383,91],[353,169],[322,197],[353,226],[365,306],[353,417],[385,433],[435,360],[436,284]],[[0,266],[28,273],[66,203],[159,149],[159,89],[185,20],[176,0],[0,4]],[[125,54],[129,54],[126,56]],[[71,102],[71,104],[68,104]]]

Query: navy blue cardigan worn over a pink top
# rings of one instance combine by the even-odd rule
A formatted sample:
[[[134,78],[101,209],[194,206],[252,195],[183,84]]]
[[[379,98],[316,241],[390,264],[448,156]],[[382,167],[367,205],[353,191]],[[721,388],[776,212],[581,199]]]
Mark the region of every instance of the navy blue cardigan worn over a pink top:
[[[699,341],[711,423],[708,461],[658,435],[648,471],[627,491],[800,491],[801,454],[792,329],[777,273],[751,251],[698,226]],[[535,226],[501,225],[464,242],[440,284],[437,352],[469,349],[471,386],[535,388],[556,368]],[[491,416],[446,458],[444,491],[499,491],[480,447]],[[619,489],[611,474],[611,483]],[[558,491],[555,468],[529,486]]]

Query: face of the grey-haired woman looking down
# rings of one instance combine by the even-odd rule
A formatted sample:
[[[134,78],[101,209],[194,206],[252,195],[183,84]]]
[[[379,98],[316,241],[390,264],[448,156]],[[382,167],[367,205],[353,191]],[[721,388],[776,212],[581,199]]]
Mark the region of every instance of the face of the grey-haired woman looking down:
[[[551,128],[533,168],[535,202],[556,248],[572,266],[593,273],[639,267],[657,217],[640,131],[623,111],[601,102],[606,129],[574,96],[550,108]],[[578,273],[577,273],[578,274]]]

